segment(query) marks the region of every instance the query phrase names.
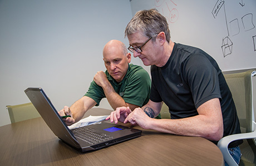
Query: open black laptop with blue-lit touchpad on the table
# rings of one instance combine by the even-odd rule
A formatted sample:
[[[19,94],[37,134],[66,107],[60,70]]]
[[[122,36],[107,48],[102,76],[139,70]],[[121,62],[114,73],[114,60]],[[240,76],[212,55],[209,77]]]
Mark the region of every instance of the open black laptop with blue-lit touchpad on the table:
[[[139,129],[106,122],[69,129],[41,87],[29,87],[24,92],[52,132],[81,152],[101,149],[141,136]]]

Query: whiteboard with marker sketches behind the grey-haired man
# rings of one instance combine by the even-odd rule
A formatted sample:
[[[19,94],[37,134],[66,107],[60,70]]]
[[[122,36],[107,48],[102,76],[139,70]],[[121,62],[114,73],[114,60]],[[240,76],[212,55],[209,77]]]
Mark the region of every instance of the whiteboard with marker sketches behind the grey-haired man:
[[[156,8],[173,42],[203,49],[223,71],[256,68],[255,0],[132,0],[131,8]]]

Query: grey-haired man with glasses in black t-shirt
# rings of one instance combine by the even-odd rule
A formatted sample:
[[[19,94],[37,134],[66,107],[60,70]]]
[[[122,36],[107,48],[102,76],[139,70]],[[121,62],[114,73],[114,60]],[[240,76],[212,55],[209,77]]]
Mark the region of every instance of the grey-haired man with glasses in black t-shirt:
[[[134,111],[117,108],[107,120],[130,122],[145,129],[204,137],[215,144],[230,134],[240,133],[232,94],[216,61],[203,50],[174,43],[166,18],[156,9],[139,11],[127,24],[129,50],[144,65],[151,65],[149,102]],[[171,119],[154,119],[163,102]],[[229,144],[239,163],[242,141]]]

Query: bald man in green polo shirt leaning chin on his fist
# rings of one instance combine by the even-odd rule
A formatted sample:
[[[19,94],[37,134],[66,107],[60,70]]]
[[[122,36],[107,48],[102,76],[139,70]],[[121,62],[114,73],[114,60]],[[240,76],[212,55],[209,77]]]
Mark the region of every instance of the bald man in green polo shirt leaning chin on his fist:
[[[103,49],[103,60],[107,70],[97,72],[85,96],[59,112],[61,116],[71,116],[63,119],[67,125],[80,121],[87,110],[99,106],[105,97],[114,110],[121,106],[134,110],[149,101],[149,74],[141,66],[129,64],[131,54],[127,53],[124,43],[108,42]]]

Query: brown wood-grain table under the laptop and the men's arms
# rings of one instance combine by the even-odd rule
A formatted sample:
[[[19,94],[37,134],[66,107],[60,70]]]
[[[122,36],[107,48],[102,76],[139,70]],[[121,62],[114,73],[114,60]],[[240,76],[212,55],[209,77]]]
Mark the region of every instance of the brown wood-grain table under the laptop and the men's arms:
[[[85,116],[109,113],[110,110],[93,108]],[[142,129],[139,138],[81,153],[58,139],[41,117],[2,126],[0,131],[0,165],[224,164],[219,148],[201,137]]]

